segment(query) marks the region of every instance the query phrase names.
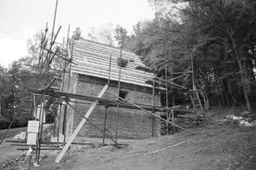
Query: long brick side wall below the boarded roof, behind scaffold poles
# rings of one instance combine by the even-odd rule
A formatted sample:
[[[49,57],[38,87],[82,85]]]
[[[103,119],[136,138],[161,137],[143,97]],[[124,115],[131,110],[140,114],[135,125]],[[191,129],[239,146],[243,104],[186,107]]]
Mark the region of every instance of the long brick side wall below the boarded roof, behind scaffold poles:
[[[84,78],[84,76],[83,76]],[[91,78],[90,78],[91,79]],[[97,94],[105,86],[104,83],[91,82],[89,78],[86,80],[78,79],[76,92],[78,94],[97,96]],[[109,91],[114,94],[118,94],[118,88],[110,86]],[[144,103],[152,104],[152,94],[146,91],[137,91],[131,88],[125,88],[122,86],[121,91],[127,91],[126,98],[133,103]],[[114,96],[106,92],[103,95],[104,98],[115,99]],[[155,97],[155,103],[160,105],[160,96]],[[85,114],[90,104],[75,103],[76,110],[80,111],[81,114]],[[107,109],[107,135],[115,136],[115,125],[116,125],[116,107],[109,107]],[[152,137],[152,121],[154,119],[154,136],[160,135],[160,121],[153,118],[151,115],[144,113],[140,110],[134,109],[123,109],[119,110],[119,130],[118,138],[120,139],[144,139]],[[98,128],[103,130],[104,125],[105,106],[97,105],[89,120],[95,124]],[[79,122],[82,120],[82,116],[74,114],[74,128],[77,127]],[[79,137],[102,137],[102,133],[99,132],[95,127],[91,126],[88,122],[85,123],[82,130],[80,131]]]

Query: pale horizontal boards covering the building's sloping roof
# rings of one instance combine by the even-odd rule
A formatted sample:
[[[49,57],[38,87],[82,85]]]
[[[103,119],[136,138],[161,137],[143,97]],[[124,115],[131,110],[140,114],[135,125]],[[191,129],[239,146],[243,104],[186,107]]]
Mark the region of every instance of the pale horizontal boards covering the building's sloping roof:
[[[74,41],[73,59],[78,66],[72,66],[72,73],[108,79],[109,55],[112,55],[110,79],[118,80],[119,66],[117,65],[117,57],[120,55],[119,49],[86,40]],[[151,87],[146,81],[152,79],[153,74],[135,69],[135,67],[138,66],[145,67],[139,56],[132,53],[122,52],[122,58],[128,60],[133,59],[134,62],[129,62],[127,67],[122,67],[121,81],[139,86]]]

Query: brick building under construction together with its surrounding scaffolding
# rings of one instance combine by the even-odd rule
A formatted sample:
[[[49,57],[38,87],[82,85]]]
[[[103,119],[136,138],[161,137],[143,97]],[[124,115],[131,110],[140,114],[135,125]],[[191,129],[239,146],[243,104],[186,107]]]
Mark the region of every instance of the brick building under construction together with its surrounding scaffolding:
[[[46,25],[38,64],[31,66],[37,70],[35,87],[29,90],[23,101],[29,101],[27,110],[30,110],[34,123],[38,123],[38,128],[33,128],[31,136],[27,137],[36,139],[31,148],[36,152],[38,164],[40,151],[45,145],[42,139],[44,124],[47,123],[45,115],[54,117],[51,141],[47,144],[65,144],[63,148],[57,148],[62,150],[57,163],[76,137],[102,138],[103,143],[109,139],[118,145],[118,139],[160,136],[163,124],[168,133],[173,127],[193,134],[174,122],[174,116],[186,111],[181,113],[175,110],[178,106],[170,107],[168,104],[169,84],[183,87],[175,84],[173,79],[182,78],[183,74],[191,71],[168,79],[166,69],[165,79],[160,79],[156,67],[149,69],[138,55],[122,51],[122,48],[84,39],[69,39],[69,33],[67,41],[57,43],[60,29],[55,33],[54,18],[52,35],[47,39]],[[164,92],[167,104],[163,107],[160,94]],[[18,113],[24,109],[22,107],[21,104]]]

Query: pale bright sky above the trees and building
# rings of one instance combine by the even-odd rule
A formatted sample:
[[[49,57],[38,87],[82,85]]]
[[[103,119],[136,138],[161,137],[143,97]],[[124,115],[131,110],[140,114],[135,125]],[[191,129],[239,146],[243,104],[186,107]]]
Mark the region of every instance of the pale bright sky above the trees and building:
[[[28,55],[27,41],[46,22],[52,29],[56,0],[0,0],[0,65],[8,67],[12,61]],[[128,31],[138,21],[154,18],[148,0],[58,0],[56,29],[58,37],[67,37],[80,27],[83,37],[89,30],[112,23]]]

